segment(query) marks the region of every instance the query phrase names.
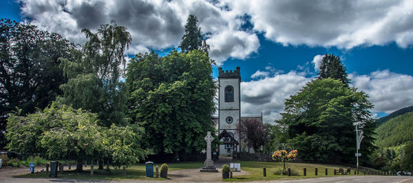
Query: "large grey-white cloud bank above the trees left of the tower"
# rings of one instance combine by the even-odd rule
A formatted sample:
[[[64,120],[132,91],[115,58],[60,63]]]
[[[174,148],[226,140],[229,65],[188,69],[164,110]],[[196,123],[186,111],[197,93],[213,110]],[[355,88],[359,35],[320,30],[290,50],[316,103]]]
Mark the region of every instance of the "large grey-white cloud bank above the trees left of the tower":
[[[189,14],[198,16],[198,25],[211,45],[210,56],[218,64],[228,58],[246,59],[260,47],[254,32],[239,30],[243,21],[237,14],[209,1],[20,1],[22,14],[32,24],[62,34],[76,44],[86,40],[81,29],[96,29],[116,21],[131,33],[132,45],[127,54],[178,47]]]

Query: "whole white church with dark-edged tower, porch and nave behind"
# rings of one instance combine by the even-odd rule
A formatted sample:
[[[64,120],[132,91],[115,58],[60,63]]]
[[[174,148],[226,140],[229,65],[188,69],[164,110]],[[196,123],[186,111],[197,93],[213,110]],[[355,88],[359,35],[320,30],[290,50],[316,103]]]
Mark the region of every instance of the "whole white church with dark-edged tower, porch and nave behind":
[[[221,156],[235,156],[234,152],[246,151],[253,153],[252,148],[246,147],[246,139],[240,139],[236,132],[237,125],[242,120],[256,119],[262,121],[262,114],[256,116],[242,116],[241,114],[241,75],[240,67],[236,70],[223,71],[218,68],[218,118],[213,119],[218,128],[218,154]]]

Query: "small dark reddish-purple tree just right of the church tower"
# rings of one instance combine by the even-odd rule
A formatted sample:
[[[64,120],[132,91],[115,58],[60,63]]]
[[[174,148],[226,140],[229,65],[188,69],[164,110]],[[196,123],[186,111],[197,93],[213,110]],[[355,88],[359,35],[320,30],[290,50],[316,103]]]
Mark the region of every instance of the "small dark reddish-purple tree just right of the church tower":
[[[257,119],[242,119],[237,124],[236,132],[247,139],[246,146],[252,147],[255,152],[261,151],[260,148],[268,141],[268,131],[264,123]]]

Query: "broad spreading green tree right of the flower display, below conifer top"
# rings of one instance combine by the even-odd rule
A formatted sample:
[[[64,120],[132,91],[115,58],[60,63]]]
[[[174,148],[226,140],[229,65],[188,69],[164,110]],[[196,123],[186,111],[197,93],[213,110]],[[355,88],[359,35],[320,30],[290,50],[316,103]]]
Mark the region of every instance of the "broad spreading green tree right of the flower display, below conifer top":
[[[279,123],[288,126],[290,143],[308,161],[350,162],[355,152],[353,122],[366,122],[361,153],[372,154],[375,123],[368,95],[331,78],[313,80],[290,96]]]

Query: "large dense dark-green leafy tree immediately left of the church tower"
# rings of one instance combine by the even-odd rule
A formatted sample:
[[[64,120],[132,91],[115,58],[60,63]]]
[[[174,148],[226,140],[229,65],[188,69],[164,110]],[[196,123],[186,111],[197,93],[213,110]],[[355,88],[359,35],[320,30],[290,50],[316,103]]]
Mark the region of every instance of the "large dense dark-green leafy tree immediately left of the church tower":
[[[214,131],[217,87],[211,74],[208,56],[198,50],[174,50],[163,58],[140,53],[130,60],[129,117],[145,127],[144,147],[176,156],[205,148],[204,136]]]

